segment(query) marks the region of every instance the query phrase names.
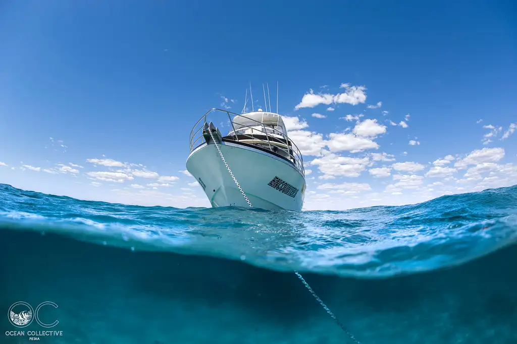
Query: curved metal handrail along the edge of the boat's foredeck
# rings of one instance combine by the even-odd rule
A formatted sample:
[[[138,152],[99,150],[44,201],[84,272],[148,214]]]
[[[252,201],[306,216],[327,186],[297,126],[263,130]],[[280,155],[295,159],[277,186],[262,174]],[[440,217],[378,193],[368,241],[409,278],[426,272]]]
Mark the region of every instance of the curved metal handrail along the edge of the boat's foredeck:
[[[279,145],[275,145],[278,149],[282,150],[283,152],[285,152],[287,154],[287,157],[289,159],[291,159],[291,161],[294,163],[295,165],[295,168],[303,175],[305,176],[305,168],[303,167],[303,156],[301,155],[300,153],[300,150],[298,149],[298,147],[296,146],[296,144],[290,139],[287,137],[287,135],[285,135],[284,133],[282,133],[280,130],[278,129],[275,129],[275,128],[270,128],[268,127],[266,129],[266,126],[264,125],[264,123],[262,122],[258,122],[254,119],[251,119],[249,117],[246,117],[244,116],[245,114],[238,114],[238,113],[234,113],[234,112],[230,112],[230,111],[227,111],[227,110],[222,110],[222,109],[217,109],[217,108],[213,108],[213,109],[210,109],[209,111],[207,111],[195,124],[194,126],[192,127],[192,130],[190,131],[190,151],[192,152],[193,149],[194,149],[194,146],[196,144],[197,141],[199,141],[200,139],[202,140],[203,139],[203,128],[205,126],[205,123],[207,123],[206,119],[207,119],[207,116],[209,113],[211,112],[225,112],[228,116],[228,119],[230,121],[230,124],[233,128],[233,135],[235,137],[235,141],[239,142],[239,136],[244,136],[244,137],[248,137],[248,138],[251,138],[252,140],[257,140],[257,141],[262,141],[264,144],[268,145],[269,146],[269,150],[272,151],[272,145],[275,145],[275,141],[278,140],[278,138],[274,137],[275,140],[270,140],[269,138],[273,138],[273,136],[271,136],[271,133],[268,133],[268,130],[272,130],[273,131],[273,134],[275,135],[280,135],[282,137],[285,138],[285,145],[286,145],[286,149],[284,149],[283,147],[279,146]],[[248,121],[252,121],[252,122],[255,122],[257,123],[256,126],[261,126],[262,127],[262,131],[258,134],[254,134],[254,133],[251,133],[251,134],[238,134],[237,133],[237,130],[235,130],[235,126],[234,126],[234,121],[232,120],[231,116],[230,115],[234,115],[235,117],[244,117],[246,118],[246,120]],[[279,115],[280,116],[280,115]],[[235,119],[234,117],[234,119]],[[202,124],[200,124],[202,123]],[[250,128],[250,129],[254,129],[254,130],[260,130],[260,129],[257,129],[256,127],[251,127],[249,125],[244,125],[244,124],[240,124],[238,123],[238,125],[242,128]],[[196,130],[197,129],[197,130]],[[195,130],[195,132],[194,132]],[[201,133],[200,133],[201,132]],[[266,139],[263,139],[263,138],[260,138],[260,137],[256,137],[255,135],[261,135],[261,136],[266,136]],[[241,139],[242,140],[242,139]],[[291,142],[291,145],[289,144]]]

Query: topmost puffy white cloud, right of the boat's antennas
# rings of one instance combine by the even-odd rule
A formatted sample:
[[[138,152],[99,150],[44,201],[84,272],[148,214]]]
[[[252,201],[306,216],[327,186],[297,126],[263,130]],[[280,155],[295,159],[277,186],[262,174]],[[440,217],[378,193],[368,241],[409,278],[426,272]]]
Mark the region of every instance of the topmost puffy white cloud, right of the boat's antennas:
[[[312,90],[309,93],[304,94],[300,104],[295,106],[295,110],[306,107],[315,107],[320,104],[331,105],[331,104],[351,104],[357,105],[359,103],[366,102],[366,87],[364,86],[350,86],[350,84],[341,84],[341,88],[345,89],[344,93],[329,94],[329,93],[318,93],[314,94]]]

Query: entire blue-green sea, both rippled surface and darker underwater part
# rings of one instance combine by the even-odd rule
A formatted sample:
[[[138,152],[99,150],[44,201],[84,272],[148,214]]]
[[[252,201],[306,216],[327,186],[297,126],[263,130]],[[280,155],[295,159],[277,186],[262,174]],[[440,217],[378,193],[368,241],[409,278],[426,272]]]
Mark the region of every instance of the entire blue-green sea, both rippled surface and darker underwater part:
[[[298,271],[362,344],[515,344],[516,240],[517,186],[292,212],[0,184],[0,343],[353,343]]]

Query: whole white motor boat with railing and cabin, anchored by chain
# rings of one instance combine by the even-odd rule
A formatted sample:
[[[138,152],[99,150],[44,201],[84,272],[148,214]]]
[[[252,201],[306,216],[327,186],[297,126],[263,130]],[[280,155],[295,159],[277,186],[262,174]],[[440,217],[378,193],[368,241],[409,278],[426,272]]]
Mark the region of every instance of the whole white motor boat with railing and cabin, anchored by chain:
[[[223,136],[214,121],[226,120],[230,132]],[[266,111],[240,114],[218,108],[206,112],[190,132],[186,167],[212,207],[302,209],[306,190],[302,155],[288,137],[282,117],[267,111],[267,105]]]

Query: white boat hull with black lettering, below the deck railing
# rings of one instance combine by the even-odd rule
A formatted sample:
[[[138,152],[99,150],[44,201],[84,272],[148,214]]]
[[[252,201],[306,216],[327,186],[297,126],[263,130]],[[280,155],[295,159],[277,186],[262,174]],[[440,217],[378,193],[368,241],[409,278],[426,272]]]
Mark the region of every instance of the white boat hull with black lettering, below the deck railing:
[[[301,210],[305,177],[290,162],[232,142],[222,142],[219,148],[254,208]],[[215,144],[204,143],[193,150],[187,171],[204,189],[212,207],[249,207]]]

